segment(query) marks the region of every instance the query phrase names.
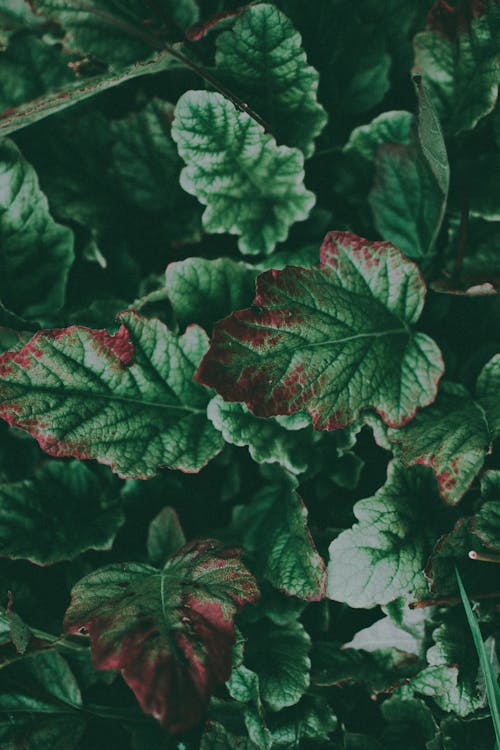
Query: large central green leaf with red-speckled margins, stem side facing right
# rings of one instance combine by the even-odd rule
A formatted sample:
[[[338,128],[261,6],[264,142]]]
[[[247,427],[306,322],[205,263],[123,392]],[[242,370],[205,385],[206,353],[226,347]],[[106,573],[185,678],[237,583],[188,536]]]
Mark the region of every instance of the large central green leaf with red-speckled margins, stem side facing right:
[[[424,296],[396,247],[330,232],[319,268],[258,277],[254,307],[215,325],[195,377],[257,416],[307,409],[317,430],[369,408],[403,425],[434,400],[443,373],[437,345],[410,327]]]

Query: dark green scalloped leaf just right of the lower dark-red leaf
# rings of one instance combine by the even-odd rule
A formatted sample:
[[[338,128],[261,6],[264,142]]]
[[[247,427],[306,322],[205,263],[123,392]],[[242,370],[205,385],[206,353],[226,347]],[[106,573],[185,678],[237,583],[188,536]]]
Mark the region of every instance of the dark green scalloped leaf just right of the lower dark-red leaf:
[[[309,687],[311,639],[299,622],[276,627],[262,620],[259,642],[250,638],[245,661],[259,676],[262,700],[271,711],[294,706]]]

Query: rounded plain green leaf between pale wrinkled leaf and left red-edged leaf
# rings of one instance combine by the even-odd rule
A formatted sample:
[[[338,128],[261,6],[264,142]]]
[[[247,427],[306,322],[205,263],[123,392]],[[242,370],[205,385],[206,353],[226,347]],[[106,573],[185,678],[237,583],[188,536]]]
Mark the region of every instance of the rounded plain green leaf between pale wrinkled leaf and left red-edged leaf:
[[[180,326],[199,323],[209,330],[216,320],[253,297],[258,271],[229,258],[186,258],[169,263],[165,288]]]

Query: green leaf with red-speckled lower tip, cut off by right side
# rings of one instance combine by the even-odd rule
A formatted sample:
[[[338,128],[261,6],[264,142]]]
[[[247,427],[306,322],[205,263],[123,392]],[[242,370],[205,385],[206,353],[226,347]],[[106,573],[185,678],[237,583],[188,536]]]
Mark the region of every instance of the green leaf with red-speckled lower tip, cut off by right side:
[[[500,432],[500,355],[483,368],[475,397],[446,384],[435,404],[403,430],[391,430],[405,466],[432,466],[443,500],[454,505],[484,464]]]

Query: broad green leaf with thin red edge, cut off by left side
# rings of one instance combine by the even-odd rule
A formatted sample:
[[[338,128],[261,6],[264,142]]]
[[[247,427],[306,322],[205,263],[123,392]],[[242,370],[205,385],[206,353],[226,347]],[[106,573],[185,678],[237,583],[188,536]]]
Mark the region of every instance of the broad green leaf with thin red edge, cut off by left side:
[[[191,326],[177,338],[133,312],[120,322],[113,336],[42,331],[2,355],[2,418],[51,455],[95,458],[120,476],[198,471],[223,445],[207,420],[209,394],[193,381],[205,332]]]

